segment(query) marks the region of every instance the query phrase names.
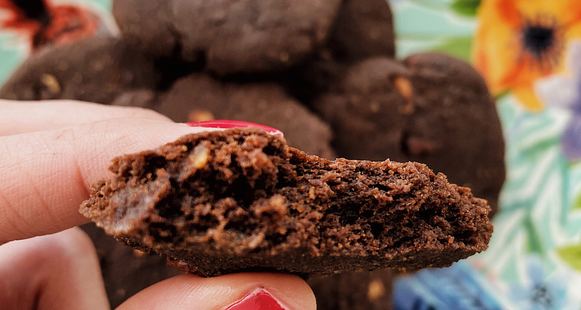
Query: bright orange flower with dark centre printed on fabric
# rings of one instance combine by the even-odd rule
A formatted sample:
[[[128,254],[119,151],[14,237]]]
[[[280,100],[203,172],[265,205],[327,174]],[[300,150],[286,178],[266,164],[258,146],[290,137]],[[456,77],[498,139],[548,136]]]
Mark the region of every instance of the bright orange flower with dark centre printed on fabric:
[[[512,91],[531,111],[540,77],[565,71],[565,46],[581,38],[579,0],[483,0],[472,56],[490,91]]]

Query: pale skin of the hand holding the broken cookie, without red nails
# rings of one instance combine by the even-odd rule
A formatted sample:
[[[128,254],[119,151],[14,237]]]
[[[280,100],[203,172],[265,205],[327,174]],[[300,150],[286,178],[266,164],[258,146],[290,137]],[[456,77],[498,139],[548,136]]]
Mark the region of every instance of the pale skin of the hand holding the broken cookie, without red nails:
[[[78,206],[112,176],[112,158],[204,130],[140,108],[0,100],[0,309],[109,309]],[[223,310],[258,288],[288,310],[316,309],[307,283],[272,273],[181,275],[117,309]]]

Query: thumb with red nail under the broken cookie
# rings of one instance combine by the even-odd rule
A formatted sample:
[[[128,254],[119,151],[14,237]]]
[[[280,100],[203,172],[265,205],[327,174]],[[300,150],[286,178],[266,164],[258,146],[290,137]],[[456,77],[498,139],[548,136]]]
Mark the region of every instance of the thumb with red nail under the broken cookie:
[[[292,275],[181,275],[133,295],[117,310],[316,310],[309,285]]]

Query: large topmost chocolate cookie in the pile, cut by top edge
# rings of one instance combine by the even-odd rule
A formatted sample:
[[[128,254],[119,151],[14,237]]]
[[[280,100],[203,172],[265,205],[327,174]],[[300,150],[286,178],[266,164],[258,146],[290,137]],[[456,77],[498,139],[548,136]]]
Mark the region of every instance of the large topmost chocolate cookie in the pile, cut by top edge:
[[[340,0],[116,0],[127,40],[221,75],[278,72],[327,37]]]

